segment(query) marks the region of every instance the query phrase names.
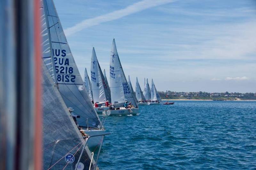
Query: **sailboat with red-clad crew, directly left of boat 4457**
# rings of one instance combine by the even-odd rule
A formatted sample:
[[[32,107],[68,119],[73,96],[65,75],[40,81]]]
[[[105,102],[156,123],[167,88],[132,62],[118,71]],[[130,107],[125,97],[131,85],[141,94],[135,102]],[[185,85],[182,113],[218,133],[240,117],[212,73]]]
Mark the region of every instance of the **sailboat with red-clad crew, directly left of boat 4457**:
[[[101,71],[94,48],[92,48],[91,80],[93,101],[98,104],[98,107],[95,107],[95,110],[97,113],[102,113],[109,109],[109,106],[105,106],[105,102],[108,101],[111,103],[111,94],[106,79]]]

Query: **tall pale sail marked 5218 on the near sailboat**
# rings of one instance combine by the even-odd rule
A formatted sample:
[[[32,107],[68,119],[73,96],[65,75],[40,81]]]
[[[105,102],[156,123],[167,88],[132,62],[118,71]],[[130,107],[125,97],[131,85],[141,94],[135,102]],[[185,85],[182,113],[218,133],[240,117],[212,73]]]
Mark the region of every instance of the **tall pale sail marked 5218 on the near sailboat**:
[[[41,9],[44,64],[58,86],[66,106],[72,107],[73,113],[81,117],[77,119],[78,124],[98,128],[100,119],[77,69],[53,1],[43,0]]]

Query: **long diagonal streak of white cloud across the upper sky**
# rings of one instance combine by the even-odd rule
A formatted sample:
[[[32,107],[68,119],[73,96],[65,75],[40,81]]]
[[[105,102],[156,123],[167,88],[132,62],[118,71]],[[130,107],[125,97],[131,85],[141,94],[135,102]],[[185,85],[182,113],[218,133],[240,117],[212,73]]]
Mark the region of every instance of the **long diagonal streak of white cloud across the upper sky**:
[[[155,6],[163,5],[172,2],[171,0],[158,0],[158,1],[151,1],[151,0],[143,0],[137,3],[134,3],[132,5],[127,6],[124,9],[116,10],[113,12],[110,12],[105,15],[100,15],[95,18],[85,19],[81,21],[80,23],[77,23],[75,26],[69,27],[64,30],[65,35],[71,35],[73,33],[76,33],[78,31],[83,30],[84,28],[88,28],[90,26],[95,26],[103,22],[112,21],[115,19],[122,18],[124,16],[152,8]]]

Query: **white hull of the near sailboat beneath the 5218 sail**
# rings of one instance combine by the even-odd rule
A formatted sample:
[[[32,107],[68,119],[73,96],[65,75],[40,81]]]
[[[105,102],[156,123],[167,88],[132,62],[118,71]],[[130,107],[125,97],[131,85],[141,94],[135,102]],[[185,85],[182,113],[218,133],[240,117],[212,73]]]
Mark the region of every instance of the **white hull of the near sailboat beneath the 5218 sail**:
[[[106,132],[105,129],[96,129],[96,130],[84,130],[84,133],[87,135],[100,135],[100,134],[104,134]],[[97,137],[91,137],[87,144],[88,147],[92,150],[95,147],[97,147],[102,140],[102,136],[97,136]]]

